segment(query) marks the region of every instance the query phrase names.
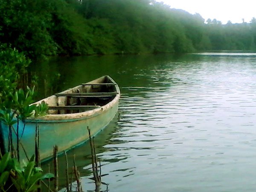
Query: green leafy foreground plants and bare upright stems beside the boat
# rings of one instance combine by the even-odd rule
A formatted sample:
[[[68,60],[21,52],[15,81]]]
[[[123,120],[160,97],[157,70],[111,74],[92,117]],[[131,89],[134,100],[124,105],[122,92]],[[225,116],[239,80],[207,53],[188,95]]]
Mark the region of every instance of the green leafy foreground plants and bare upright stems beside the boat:
[[[0,192],[18,191],[18,192],[35,192],[47,189],[47,191],[58,191],[58,187],[63,187],[63,182],[58,183],[58,146],[54,146],[53,152],[53,167],[54,174],[43,174],[41,169],[41,159],[39,153],[39,126],[35,124],[35,154],[29,158],[26,148],[22,144],[23,133],[26,129],[20,126],[19,122],[33,116],[36,119],[38,116],[47,114],[48,105],[42,102],[39,105],[31,105],[35,96],[35,84],[32,79],[28,79],[27,67],[31,63],[23,53],[12,49],[3,44],[0,46],[0,124],[6,125],[8,129],[8,142],[0,141]],[[28,85],[34,84],[30,89]],[[22,89],[26,87],[26,91]],[[1,125],[0,125],[1,127]],[[3,127],[2,127],[3,128]],[[96,157],[96,149],[94,138],[90,135],[90,129],[87,127],[90,137],[91,147],[91,163],[93,169],[93,177],[95,181],[96,191],[100,191],[102,182],[101,165]],[[6,130],[7,131],[7,130]],[[0,137],[4,137],[3,130],[0,131]],[[6,146],[5,146],[6,145]],[[21,147],[21,149],[20,149]],[[20,151],[25,154],[25,159],[20,157]],[[5,153],[4,155],[3,152]],[[79,170],[73,157],[74,166],[71,170],[71,178],[69,179],[70,170],[68,169],[67,154],[66,155],[66,187],[67,191],[82,192]],[[72,186],[75,175],[76,186]],[[108,175],[108,174],[106,174]],[[49,179],[54,178],[54,182]],[[44,180],[48,179],[46,184]],[[43,185],[41,185],[41,183]],[[44,188],[43,188],[44,186]],[[52,190],[51,188],[54,189]],[[107,185],[108,189],[108,185]]]

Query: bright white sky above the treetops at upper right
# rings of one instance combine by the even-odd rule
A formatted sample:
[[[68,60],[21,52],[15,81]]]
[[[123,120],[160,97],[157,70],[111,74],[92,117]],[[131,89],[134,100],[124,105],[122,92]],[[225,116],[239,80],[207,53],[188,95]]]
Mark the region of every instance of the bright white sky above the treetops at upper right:
[[[217,19],[223,24],[250,22],[256,17],[255,0],[157,0],[175,9],[183,9],[189,13],[199,13],[205,20]]]

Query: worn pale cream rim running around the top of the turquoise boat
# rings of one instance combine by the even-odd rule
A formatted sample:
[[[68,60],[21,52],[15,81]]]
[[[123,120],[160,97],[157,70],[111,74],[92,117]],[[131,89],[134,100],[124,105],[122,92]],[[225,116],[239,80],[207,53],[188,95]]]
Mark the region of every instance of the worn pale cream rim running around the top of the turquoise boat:
[[[108,102],[106,105],[103,105],[100,108],[95,108],[95,109],[91,109],[91,110],[83,111],[83,112],[79,112],[79,113],[48,114],[48,115],[45,115],[45,116],[39,116],[36,119],[35,118],[28,118],[28,119],[25,119],[25,122],[26,123],[27,122],[46,122],[46,123],[72,122],[72,121],[78,121],[78,120],[82,120],[82,119],[88,119],[88,118],[91,118],[93,116],[97,116],[97,115],[99,115],[100,113],[102,113],[104,111],[107,111],[108,109],[112,108],[113,105],[118,103],[119,98],[120,98],[120,89],[119,89],[118,85],[116,84],[116,82],[110,76],[102,76],[102,77],[107,77],[111,82],[114,83],[113,86],[115,86],[116,93],[117,93],[116,96],[111,100],[111,102]],[[102,77],[100,77],[100,78],[102,78]],[[98,78],[98,79],[100,79],[100,78]],[[94,79],[94,80],[96,80],[96,79]],[[69,89],[64,90],[60,93],[65,93],[69,90],[76,89],[80,86],[84,86],[84,85],[80,84],[80,85],[77,85],[76,87],[69,88]],[[52,95],[52,96],[49,96],[47,98],[50,98],[50,97],[56,97],[56,96]],[[41,103],[41,102],[45,101],[47,98],[41,99],[40,101],[32,103],[31,105]]]

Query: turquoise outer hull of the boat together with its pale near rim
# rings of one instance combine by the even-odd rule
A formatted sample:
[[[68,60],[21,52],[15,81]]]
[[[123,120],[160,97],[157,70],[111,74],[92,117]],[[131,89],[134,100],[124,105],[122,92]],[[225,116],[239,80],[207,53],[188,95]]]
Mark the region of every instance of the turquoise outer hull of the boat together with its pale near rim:
[[[117,85],[116,91],[120,93]],[[49,98],[52,98],[52,96]],[[61,154],[88,140],[89,133],[87,127],[90,128],[91,136],[99,133],[116,115],[118,102],[119,94],[108,104],[94,110],[62,115],[53,114],[43,116],[39,119],[26,119],[25,122],[20,121],[18,131],[20,143],[24,146],[29,158],[35,154],[35,131],[36,126],[38,126],[40,158],[42,161],[47,160],[52,157],[54,145],[58,146],[59,154]],[[25,128],[23,131],[24,123]],[[13,125],[13,127],[17,130],[17,124]],[[9,128],[0,122],[0,145],[2,153],[8,151],[8,136]],[[14,132],[12,138],[16,149],[17,136]],[[26,160],[26,155],[21,145],[20,160]]]

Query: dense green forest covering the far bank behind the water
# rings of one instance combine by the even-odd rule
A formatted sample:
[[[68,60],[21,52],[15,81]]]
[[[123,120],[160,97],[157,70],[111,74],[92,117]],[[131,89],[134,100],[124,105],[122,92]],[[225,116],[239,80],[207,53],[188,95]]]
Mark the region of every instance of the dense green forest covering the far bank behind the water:
[[[0,0],[0,12],[0,44],[29,58],[256,50],[255,18],[222,24],[154,0]]]

